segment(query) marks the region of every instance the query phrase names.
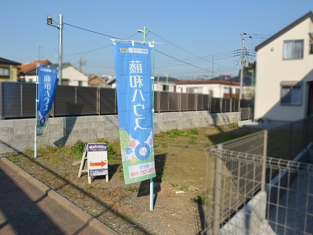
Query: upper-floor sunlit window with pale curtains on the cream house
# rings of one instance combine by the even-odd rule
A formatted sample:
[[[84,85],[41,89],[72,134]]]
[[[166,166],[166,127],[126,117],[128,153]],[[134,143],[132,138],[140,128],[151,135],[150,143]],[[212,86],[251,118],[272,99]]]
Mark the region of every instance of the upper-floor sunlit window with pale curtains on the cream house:
[[[303,58],[303,40],[284,41],[284,59],[302,59]]]

